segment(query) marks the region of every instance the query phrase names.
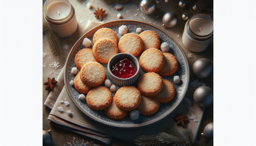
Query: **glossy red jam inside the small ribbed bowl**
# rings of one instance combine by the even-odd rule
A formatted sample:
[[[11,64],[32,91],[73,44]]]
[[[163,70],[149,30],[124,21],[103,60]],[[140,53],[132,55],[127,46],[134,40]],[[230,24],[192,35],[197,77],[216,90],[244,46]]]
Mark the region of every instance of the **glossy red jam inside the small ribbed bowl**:
[[[119,78],[126,79],[134,76],[137,68],[130,58],[115,61],[110,66],[111,72]]]

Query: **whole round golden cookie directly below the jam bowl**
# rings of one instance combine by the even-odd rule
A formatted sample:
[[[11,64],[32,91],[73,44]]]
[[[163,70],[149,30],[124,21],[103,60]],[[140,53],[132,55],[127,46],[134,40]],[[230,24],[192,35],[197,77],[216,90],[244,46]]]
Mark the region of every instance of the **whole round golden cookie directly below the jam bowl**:
[[[140,91],[132,86],[121,87],[115,96],[116,106],[122,111],[133,111],[140,106],[141,94]]]

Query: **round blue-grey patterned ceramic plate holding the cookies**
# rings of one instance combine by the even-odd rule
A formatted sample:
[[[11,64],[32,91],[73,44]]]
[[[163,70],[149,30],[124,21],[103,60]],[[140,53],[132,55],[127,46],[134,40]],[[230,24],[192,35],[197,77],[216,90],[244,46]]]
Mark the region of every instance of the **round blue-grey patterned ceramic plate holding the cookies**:
[[[169,44],[170,49],[168,53],[173,54],[179,63],[179,67],[177,72],[169,77],[162,77],[163,79],[167,79],[170,82],[173,83],[175,90],[176,90],[176,95],[174,99],[165,104],[160,104],[160,108],[158,112],[156,112],[154,115],[151,116],[139,116],[138,120],[131,120],[130,116],[128,115],[126,118],[122,120],[112,120],[108,118],[105,114],[104,111],[94,111],[90,109],[87,104],[86,100],[80,101],[78,99],[79,94],[74,86],[70,86],[69,82],[71,80],[74,80],[75,75],[71,73],[71,70],[73,67],[76,67],[74,64],[74,58],[77,54],[77,52],[85,47],[83,47],[82,42],[84,38],[88,38],[92,41],[94,33],[100,29],[100,28],[110,28],[118,36],[118,40],[122,37],[122,35],[119,34],[119,27],[121,25],[126,25],[128,28],[128,33],[136,33],[137,28],[142,28],[142,30],[152,30],[155,31],[161,40],[161,43],[166,42]],[[93,47],[93,44],[91,45],[90,48]],[[141,55],[141,54],[140,54]],[[139,60],[140,55],[138,55],[136,58]],[[106,79],[109,79],[108,75],[108,70],[107,70],[107,64],[102,64],[103,67],[106,70]],[[144,74],[143,70],[140,70],[140,76]],[[173,82],[173,77],[174,76],[179,76],[182,82],[179,84],[174,84]],[[86,116],[92,118],[93,120],[102,123],[107,126],[112,126],[112,127],[119,127],[119,128],[135,128],[135,127],[144,127],[148,126],[151,124],[154,124],[160,120],[163,120],[165,117],[170,115],[182,102],[183,98],[185,97],[185,94],[188,90],[189,86],[189,66],[188,66],[188,60],[186,58],[186,55],[180,45],[177,43],[177,41],[170,36],[168,33],[166,33],[164,30],[158,28],[157,26],[151,25],[149,23],[145,23],[142,21],[134,21],[134,20],[116,20],[116,21],[110,21],[106,22],[103,24],[100,24],[91,30],[89,30],[87,33],[85,33],[77,42],[74,44],[73,48],[71,49],[67,61],[66,61],[66,68],[64,72],[64,82],[65,86],[68,92],[69,97],[72,99],[74,104],[77,106],[77,108],[84,113]],[[111,85],[113,83],[111,82]],[[104,83],[101,85],[104,86]],[[137,86],[137,82],[132,84],[131,86]],[[119,89],[119,86],[116,86],[116,91]],[[113,97],[115,96],[116,92],[111,92],[113,94]],[[86,96],[86,95],[85,95]]]

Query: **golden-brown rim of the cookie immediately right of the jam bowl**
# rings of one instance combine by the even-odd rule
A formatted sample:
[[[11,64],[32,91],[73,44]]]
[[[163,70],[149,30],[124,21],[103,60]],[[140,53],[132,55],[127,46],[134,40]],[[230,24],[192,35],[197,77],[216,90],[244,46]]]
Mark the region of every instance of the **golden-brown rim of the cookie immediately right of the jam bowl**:
[[[153,69],[149,69],[149,68],[145,67],[145,66],[146,66],[146,65],[144,65],[145,62],[143,62],[144,59],[140,59],[140,60],[139,60],[140,67],[141,67],[141,69],[142,69],[144,72],[146,72],[146,73],[148,73],[148,72],[158,73],[158,72],[160,72],[160,71],[164,68],[164,65],[165,65],[165,62],[166,62],[166,59],[165,59],[165,57],[164,57],[164,54],[163,54],[160,50],[158,50],[158,49],[151,48],[151,49],[147,49],[145,52],[143,52],[143,53],[141,54],[140,58],[141,58],[141,57],[144,57],[144,55],[145,55],[147,52],[149,52],[149,51],[161,53],[161,57],[163,58],[162,64],[161,64],[160,66],[158,66],[158,67],[153,68]],[[145,55],[145,57],[147,57],[147,56]]]

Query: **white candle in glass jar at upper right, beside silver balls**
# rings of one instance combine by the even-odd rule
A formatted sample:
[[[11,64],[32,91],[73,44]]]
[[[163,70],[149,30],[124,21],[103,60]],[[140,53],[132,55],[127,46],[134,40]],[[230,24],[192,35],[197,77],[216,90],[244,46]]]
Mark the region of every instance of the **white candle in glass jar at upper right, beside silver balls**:
[[[202,52],[213,39],[213,19],[207,14],[195,14],[185,24],[182,42],[193,52]]]

